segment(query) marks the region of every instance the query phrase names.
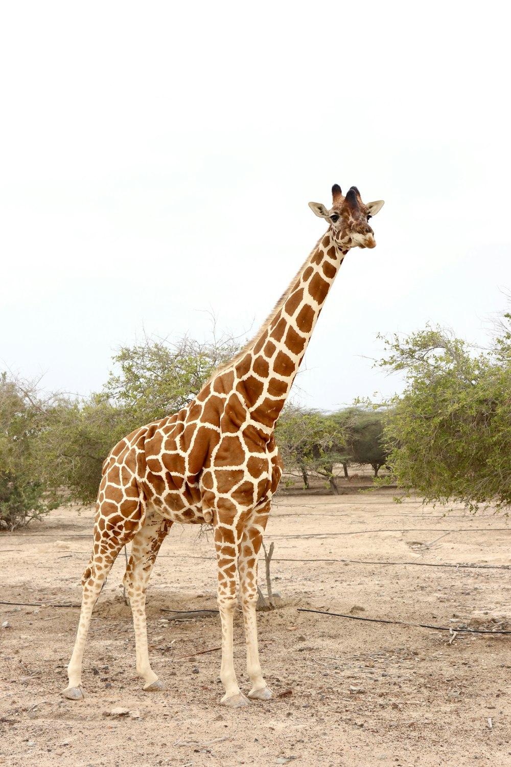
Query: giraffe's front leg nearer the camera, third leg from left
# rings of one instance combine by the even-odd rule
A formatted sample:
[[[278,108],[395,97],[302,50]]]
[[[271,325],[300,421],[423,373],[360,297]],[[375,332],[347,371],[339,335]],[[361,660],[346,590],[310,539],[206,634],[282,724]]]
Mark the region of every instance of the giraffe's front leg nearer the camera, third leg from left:
[[[228,525],[215,525],[215,549],[218,565],[218,610],[221,620],[221,668],[220,679],[225,694],[221,699],[223,706],[240,708],[248,706],[246,696],[241,692],[234,671],[233,624],[234,610],[237,606],[236,563],[239,555],[239,542],[236,530]]]

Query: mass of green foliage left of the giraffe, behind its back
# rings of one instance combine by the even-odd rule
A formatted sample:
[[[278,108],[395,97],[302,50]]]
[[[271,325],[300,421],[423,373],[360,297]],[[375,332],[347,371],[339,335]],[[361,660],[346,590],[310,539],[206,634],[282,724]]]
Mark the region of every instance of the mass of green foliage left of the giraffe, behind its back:
[[[171,415],[237,345],[213,337],[122,347],[99,394],[45,395],[37,383],[0,378],[0,523],[18,525],[64,502],[93,502],[103,461],[123,436]]]

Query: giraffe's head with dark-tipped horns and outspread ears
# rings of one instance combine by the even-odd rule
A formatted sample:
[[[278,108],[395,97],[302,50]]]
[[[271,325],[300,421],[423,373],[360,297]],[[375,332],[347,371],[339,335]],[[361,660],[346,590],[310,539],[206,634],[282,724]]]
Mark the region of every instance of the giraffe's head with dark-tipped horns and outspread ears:
[[[339,184],[332,186],[332,208],[329,210],[321,202],[309,203],[316,216],[329,222],[336,245],[343,253],[350,248],[375,247],[375,232],[369,225],[369,219],[376,216],[382,205],[382,199],[364,204],[356,186],[349,189],[346,197],[342,196]]]

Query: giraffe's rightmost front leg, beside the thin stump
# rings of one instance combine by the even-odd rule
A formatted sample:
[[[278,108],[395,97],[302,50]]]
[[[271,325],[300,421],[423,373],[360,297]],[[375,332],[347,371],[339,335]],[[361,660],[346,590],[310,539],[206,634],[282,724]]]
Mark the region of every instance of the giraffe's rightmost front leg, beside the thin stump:
[[[254,700],[270,700],[272,693],[264,681],[260,667],[259,647],[257,642],[257,555],[263,542],[264,528],[270,513],[270,503],[257,512],[247,522],[241,539],[239,558],[241,604],[245,624],[247,642],[247,673],[250,676],[252,689],[248,693]]]

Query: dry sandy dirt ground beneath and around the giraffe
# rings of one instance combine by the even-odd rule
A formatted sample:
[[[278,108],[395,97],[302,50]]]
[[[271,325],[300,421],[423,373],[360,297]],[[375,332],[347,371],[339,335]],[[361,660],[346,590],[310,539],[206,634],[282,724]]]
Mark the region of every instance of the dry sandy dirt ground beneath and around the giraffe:
[[[0,534],[0,764],[511,765],[511,635],[495,633],[511,628],[502,515],[444,517],[419,501],[396,505],[391,491],[278,496],[266,542],[280,596],[259,614],[275,697],[231,710],[219,705],[218,615],[163,611],[216,608],[211,541],[192,526],[174,525],[148,591],[150,656],[167,690],[143,693],[136,675],[120,555],[93,614],[87,697],[61,697],[78,609],[56,605],[80,601],[92,513],[57,509]],[[437,566],[463,564],[474,567]],[[241,614],[235,642],[247,692]],[[127,713],[113,716],[119,707]]]

